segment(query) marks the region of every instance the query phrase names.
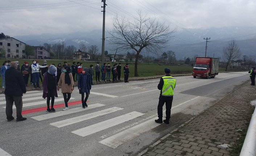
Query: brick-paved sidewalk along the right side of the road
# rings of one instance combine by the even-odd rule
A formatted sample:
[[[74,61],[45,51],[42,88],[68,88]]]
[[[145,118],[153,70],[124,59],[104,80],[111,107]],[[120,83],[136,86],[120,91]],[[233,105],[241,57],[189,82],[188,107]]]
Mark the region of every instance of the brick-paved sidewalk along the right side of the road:
[[[248,127],[255,95],[255,86],[243,84],[144,150],[143,156],[234,156],[232,145]]]

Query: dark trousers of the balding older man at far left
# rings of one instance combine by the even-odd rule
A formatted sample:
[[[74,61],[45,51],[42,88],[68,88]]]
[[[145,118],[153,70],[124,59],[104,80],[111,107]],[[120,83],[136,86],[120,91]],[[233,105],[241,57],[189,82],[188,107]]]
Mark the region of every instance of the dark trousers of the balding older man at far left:
[[[5,113],[7,120],[12,119],[12,106],[13,102],[16,106],[16,112],[17,112],[17,119],[21,119],[21,111],[22,111],[22,96],[9,96],[5,95],[5,101],[6,101],[6,108]]]

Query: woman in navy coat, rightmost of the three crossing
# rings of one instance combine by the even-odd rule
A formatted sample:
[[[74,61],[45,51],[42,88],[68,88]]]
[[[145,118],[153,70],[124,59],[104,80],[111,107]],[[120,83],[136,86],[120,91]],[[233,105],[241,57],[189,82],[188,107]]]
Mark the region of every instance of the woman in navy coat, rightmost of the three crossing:
[[[82,95],[82,107],[88,107],[86,104],[86,101],[88,100],[90,90],[91,90],[91,77],[89,74],[88,68],[83,68],[83,72],[79,75],[78,79],[78,89],[79,94]],[[84,93],[86,94],[86,97],[84,98]]]

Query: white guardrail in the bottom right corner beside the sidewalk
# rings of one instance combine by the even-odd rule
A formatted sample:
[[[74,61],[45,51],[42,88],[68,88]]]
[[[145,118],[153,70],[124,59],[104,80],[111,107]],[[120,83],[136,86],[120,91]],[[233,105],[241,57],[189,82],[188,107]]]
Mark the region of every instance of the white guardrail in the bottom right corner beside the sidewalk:
[[[240,156],[256,156],[256,109],[252,114]]]

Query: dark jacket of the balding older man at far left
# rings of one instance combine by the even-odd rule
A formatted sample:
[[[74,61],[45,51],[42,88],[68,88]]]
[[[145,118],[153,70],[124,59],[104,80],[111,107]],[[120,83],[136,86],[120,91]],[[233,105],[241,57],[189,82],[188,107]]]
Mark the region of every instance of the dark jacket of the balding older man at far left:
[[[9,96],[22,96],[26,93],[26,85],[20,71],[9,68],[5,72],[4,94]]]

